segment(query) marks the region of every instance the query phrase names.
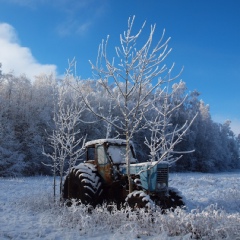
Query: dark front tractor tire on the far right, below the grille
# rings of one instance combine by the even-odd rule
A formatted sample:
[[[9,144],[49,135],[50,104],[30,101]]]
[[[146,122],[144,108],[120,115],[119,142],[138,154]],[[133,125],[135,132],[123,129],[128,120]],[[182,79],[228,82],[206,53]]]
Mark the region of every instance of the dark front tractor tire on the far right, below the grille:
[[[177,207],[184,207],[185,203],[181,192],[175,188],[168,189],[168,195],[166,197],[166,207],[168,209],[175,209]]]

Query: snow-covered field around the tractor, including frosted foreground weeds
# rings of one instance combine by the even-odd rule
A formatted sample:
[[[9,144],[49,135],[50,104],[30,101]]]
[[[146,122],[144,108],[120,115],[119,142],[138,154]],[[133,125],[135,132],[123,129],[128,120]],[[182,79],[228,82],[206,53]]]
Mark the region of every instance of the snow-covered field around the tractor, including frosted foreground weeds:
[[[151,214],[53,203],[52,178],[0,178],[0,239],[240,239],[240,172],[170,175],[187,210]]]

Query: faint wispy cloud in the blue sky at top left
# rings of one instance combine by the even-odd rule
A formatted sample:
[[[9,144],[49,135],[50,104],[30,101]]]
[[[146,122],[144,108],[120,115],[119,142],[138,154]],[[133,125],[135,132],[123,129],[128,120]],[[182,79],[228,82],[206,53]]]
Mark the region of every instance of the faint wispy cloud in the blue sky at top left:
[[[7,3],[39,9],[41,6],[50,7],[63,14],[56,31],[62,37],[78,34],[84,35],[99,18],[106,14],[108,0],[3,0]]]

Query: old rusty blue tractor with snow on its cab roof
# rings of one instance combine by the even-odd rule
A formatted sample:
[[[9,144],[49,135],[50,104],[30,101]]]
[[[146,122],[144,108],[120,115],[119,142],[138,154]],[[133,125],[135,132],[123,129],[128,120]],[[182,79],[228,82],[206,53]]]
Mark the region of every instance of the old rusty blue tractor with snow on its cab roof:
[[[130,207],[184,206],[181,194],[168,187],[168,162],[138,163],[130,144],[130,176],[127,175],[126,141],[99,139],[87,142],[86,161],[70,169],[65,177],[62,198],[96,206],[116,203]],[[129,182],[132,192],[129,193]]]

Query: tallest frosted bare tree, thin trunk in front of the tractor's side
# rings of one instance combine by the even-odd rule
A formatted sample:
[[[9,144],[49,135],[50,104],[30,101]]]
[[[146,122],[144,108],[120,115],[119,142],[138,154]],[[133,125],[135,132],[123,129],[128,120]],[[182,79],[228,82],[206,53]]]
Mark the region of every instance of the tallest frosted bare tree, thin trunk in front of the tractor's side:
[[[89,98],[84,96],[81,88],[78,88],[85,105],[91,112],[120,132],[124,132],[130,192],[132,191],[132,183],[129,142],[141,128],[145,113],[151,108],[154,91],[161,85],[175,80],[180,74],[169,78],[174,64],[170,68],[164,64],[164,60],[171,52],[171,49],[168,49],[170,38],[164,40],[165,31],[163,31],[156,45],[153,46],[156,25],[151,26],[146,42],[139,47],[138,40],[145,23],[136,34],[133,34],[134,19],[135,17],[129,18],[127,31],[120,35],[120,47],[115,48],[116,58],[110,60],[107,55],[109,41],[109,37],[107,37],[107,40],[102,41],[99,46],[96,64],[90,62],[98,83],[105,89],[109,100],[118,108],[119,121],[111,121],[111,118],[104,115],[99,109],[94,108]]]

